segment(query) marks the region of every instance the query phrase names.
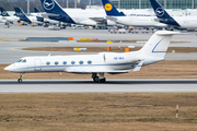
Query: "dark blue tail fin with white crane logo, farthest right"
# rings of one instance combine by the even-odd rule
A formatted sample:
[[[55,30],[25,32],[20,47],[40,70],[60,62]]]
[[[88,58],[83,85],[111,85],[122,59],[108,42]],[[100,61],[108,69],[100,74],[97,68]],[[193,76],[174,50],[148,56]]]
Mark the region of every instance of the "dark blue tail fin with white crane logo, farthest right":
[[[157,0],[150,0],[150,2],[155,15],[159,19],[159,22],[181,27],[179,24],[164,10],[164,8]]]

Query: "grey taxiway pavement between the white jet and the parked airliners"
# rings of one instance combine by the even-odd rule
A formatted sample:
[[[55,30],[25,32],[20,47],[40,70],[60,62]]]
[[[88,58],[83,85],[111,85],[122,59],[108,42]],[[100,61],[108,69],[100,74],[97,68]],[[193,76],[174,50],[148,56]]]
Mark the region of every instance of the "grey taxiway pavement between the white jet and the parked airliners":
[[[171,44],[171,47],[197,47],[197,33],[188,33],[185,35],[175,35],[172,41],[187,41],[181,44]],[[151,37],[149,34],[111,34],[107,29],[73,29],[67,28],[61,31],[49,31],[46,27],[31,27],[12,25],[10,28],[4,28],[0,24],[0,63],[12,63],[22,57],[26,56],[51,56],[56,55],[74,55],[82,52],[57,52],[57,51],[26,51],[21,50],[27,47],[142,47],[143,44],[130,43],[74,43],[79,38],[99,38],[100,40],[140,40],[146,41]],[[26,37],[73,37],[72,43],[35,43],[35,41],[19,41]],[[2,39],[9,39],[3,41]],[[166,53],[166,60],[196,60],[197,53]]]

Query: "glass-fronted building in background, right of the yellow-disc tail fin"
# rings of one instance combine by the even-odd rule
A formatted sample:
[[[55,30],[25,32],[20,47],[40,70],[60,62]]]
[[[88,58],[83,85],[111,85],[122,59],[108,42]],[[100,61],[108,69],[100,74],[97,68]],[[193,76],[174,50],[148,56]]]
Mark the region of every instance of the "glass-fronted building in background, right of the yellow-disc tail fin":
[[[151,9],[149,0],[111,0],[118,9]],[[158,0],[165,9],[197,9],[197,0]]]

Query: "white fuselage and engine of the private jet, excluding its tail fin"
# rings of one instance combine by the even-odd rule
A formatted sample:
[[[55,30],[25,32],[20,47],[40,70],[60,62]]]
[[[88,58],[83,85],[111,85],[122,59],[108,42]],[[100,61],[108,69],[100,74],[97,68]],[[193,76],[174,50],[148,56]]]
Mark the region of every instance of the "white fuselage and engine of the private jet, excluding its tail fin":
[[[138,56],[137,56],[138,55]],[[146,59],[146,58],[144,58]],[[101,52],[82,56],[24,57],[4,70],[16,73],[77,72],[93,73],[132,69],[139,63],[139,52]],[[144,64],[163,59],[147,58]]]

